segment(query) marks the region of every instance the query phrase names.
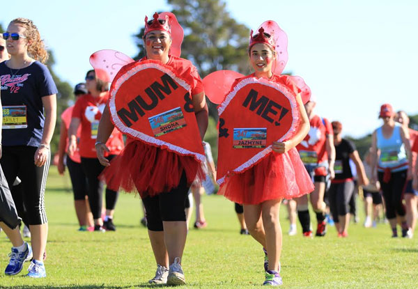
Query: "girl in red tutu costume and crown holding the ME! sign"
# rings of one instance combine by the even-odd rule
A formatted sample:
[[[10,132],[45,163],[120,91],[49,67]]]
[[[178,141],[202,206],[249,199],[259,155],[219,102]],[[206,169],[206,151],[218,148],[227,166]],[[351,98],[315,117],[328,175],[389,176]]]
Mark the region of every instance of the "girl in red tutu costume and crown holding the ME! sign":
[[[287,134],[281,141],[272,141],[272,143],[268,143],[267,141],[266,145],[270,144],[270,146],[261,152],[266,153],[256,162],[253,162],[251,166],[248,166],[247,170],[239,171],[238,168],[238,170],[233,170],[233,172],[228,171],[224,178],[222,175],[218,175],[218,182],[221,184],[218,194],[223,194],[231,201],[244,205],[245,223],[247,224],[249,233],[257,242],[263,245],[263,251],[265,252],[265,281],[263,285],[268,286],[279,286],[282,283],[279,274],[282,240],[279,222],[281,200],[283,198],[295,198],[297,196],[302,196],[303,194],[308,194],[314,188],[309,175],[304,170],[297,150],[295,149],[297,143],[300,143],[309,131],[309,119],[304,110],[300,89],[297,88],[290,77],[287,75],[279,75],[287,60],[286,56],[283,57],[287,54],[287,43],[283,46],[281,45],[281,42],[286,42],[286,34],[281,31],[275,22],[265,22],[254,36],[251,31],[249,40],[249,61],[254,68],[254,73],[247,77],[236,79],[232,86],[231,93],[233,93],[233,91],[245,89],[245,87],[243,87],[246,83],[245,81],[247,81],[247,83],[248,81],[255,83],[254,86],[251,86],[254,87],[254,89],[256,89],[256,85],[264,84],[265,86],[277,86],[281,91],[287,91],[287,95],[290,95],[289,98],[291,98],[291,102],[294,104],[292,109],[293,120],[289,120],[292,123],[295,123],[293,131],[291,134]],[[281,47],[277,49],[279,46]],[[276,70],[274,70],[274,66]],[[253,89],[251,89],[251,91],[253,91]],[[247,100],[249,100],[251,91],[248,96],[246,96],[245,102],[242,104],[241,102],[235,102],[236,105],[233,104],[233,100],[229,102],[229,97],[231,96],[231,93],[229,93],[218,108],[221,124],[219,127],[218,172],[222,166],[222,161],[230,162],[225,157],[221,158],[221,146],[223,146],[222,136],[225,134],[235,134],[235,130],[248,130],[234,128],[233,132],[231,130],[226,132],[223,127],[228,127],[228,123],[233,120],[231,119],[231,115],[228,116],[226,110],[223,111],[223,109],[227,109],[226,105],[233,106],[231,111],[238,110],[242,106],[245,107],[248,104]],[[233,97],[237,97],[237,95],[238,93]],[[245,93],[245,95],[247,95],[247,93]],[[254,113],[256,112],[254,118],[251,118],[251,116],[245,117],[246,112],[242,112],[242,126],[238,127],[265,127],[263,126],[263,121],[265,122],[265,119],[277,119],[279,115],[288,112],[283,109],[281,109],[281,113],[277,111],[280,111],[280,107],[284,106],[284,104],[279,102],[277,95],[274,95],[273,93],[269,94],[267,91],[263,94],[258,93],[258,97],[261,95],[263,95],[261,98],[258,98],[258,100],[253,99],[254,102],[251,102],[249,105],[249,109],[251,110],[251,105],[254,104],[252,108]],[[263,97],[268,97],[274,102],[274,104],[270,104],[272,102],[269,102],[269,104],[264,106],[265,110],[268,110],[267,112],[258,110],[263,107],[263,100],[265,100]],[[226,102],[229,102],[229,104],[226,104]],[[257,104],[260,104],[260,106],[256,107]],[[273,109],[274,107],[276,110]],[[236,125],[240,125],[240,123],[235,123],[235,127],[237,127]],[[284,125],[286,124],[283,122],[277,123],[276,120],[276,127],[283,127]],[[264,129],[267,134],[267,140],[268,134],[274,134],[274,131],[277,131],[276,127],[273,126]],[[258,130],[263,131],[263,129],[260,128]],[[257,137],[259,138],[259,136]],[[257,139],[257,137],[255,139]],[[274,137],[275,138],[272,140],[279,139],[279,137],[275,135]],[[235,141],[237,140],[234,136],[234,144]],[[239,151],[240,154],[244,154],[252,148],[242,149],[241,147],[236,146],[234,149],[237,152]],[[247,163],[248,162],[245,164]],[[245,166],[245,164],[242,166]]]

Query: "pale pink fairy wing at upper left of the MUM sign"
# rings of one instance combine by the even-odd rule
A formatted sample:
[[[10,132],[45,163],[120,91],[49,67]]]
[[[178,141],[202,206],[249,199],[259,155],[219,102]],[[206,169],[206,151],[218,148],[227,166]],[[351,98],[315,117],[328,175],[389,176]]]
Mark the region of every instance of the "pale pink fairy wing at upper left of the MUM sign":
[[[95,70],[96,77],[111,82],[122,66],[134,62],[132,58],[116,50],[104,49],[91,54],[90,64]]]

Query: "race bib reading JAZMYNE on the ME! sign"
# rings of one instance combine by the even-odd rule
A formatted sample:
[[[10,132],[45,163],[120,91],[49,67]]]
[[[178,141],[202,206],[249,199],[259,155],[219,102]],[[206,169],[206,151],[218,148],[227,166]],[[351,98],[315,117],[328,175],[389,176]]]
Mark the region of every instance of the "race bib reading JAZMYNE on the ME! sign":
[[[265,148],[267,128],[234,128],[233,148]]]

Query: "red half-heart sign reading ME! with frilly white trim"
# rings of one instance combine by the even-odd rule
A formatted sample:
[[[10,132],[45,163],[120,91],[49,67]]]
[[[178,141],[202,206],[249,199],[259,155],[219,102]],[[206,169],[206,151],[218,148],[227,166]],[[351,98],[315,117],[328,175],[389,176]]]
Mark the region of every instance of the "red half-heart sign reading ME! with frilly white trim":
[[[299,113],[295,93],[284,84],[245,77],[218,107],[217,182],[242,173],[272,151],[273,141],[295,133]]]

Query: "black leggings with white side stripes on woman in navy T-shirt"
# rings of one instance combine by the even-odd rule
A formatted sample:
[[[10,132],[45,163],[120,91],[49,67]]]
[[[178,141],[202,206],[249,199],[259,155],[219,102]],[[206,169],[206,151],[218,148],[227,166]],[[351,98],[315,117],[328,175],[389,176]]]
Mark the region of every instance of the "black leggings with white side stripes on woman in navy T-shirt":
[[[45,212],[45,185],[49,171],[49,161],[51,156],[47,157],[47,162],[43,166],[36,166],[33,157],[36,150],[33,146],[3,146],[3,155],[0,159],[1,167],[12,191],[13,201],[15,201],[18,214],[21,210],[26,210],[26,216],[29,225],[41,225],[47,223],[47,213]],[[22,183],[22,190],[17,194],[13,189],[13,183],[19,176]],[[15,198],[19,195],[19,198]],[[26,220],[25,220],[26,222]]]

